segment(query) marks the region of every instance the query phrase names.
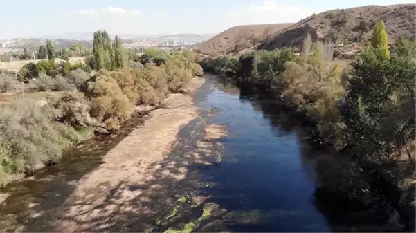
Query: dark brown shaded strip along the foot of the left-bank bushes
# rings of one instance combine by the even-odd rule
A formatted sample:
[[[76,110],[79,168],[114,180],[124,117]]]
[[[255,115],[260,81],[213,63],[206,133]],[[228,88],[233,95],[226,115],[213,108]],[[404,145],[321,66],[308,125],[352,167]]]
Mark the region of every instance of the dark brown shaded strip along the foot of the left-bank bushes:
[[[4,200],[0,205],[1,231],[39,232],[38,227],[44,225],[54,215],[54,209],[71,196],[76,181],[100,166],[103,156],[140,127],[147,113],[125,122],[117,135],[86,140],[82,145],[64,151],[59,164],[39,169],[33,176],[0,189]]]

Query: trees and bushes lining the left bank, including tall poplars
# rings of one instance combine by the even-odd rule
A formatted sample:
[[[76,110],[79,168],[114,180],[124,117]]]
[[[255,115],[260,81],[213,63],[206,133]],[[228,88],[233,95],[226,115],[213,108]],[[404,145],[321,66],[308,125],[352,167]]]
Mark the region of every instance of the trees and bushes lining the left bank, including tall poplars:
[[[93,37],[93,53],[85,64],[42,59],[19,71],[19,80],[36,93],[46,91],[46,100],[32,100],[26,92],[26,99],[0,103],[0,185],[14,174],[58,162],[64,149],[95,129],[117,133],[136,105],[158,104],[202,75],[198,57],[190,50],[150,48],[139,56],[125,50],[118,37],[111,41],[105,30]],[[14,84],[21,85],[0,73],[1,91],[10,91]]]

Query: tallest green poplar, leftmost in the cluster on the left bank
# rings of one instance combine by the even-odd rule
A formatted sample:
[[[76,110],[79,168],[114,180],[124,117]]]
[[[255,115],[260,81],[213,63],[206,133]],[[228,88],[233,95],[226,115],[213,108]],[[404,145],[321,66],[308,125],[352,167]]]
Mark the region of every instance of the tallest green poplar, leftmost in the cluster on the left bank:
[[[105,68],[111,70],[111,39],[105,30],[94,32],[93,57],[96,70]]]

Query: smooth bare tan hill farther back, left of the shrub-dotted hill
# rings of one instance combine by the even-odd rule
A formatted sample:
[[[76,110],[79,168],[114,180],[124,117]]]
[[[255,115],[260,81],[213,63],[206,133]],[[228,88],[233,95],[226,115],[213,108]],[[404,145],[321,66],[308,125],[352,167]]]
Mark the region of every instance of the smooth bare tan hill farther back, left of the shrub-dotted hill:
[[[195,48],[205,55],[221,55],[237,53],[244,49],[257,46],[260,41],[273,35],[291,24],[259,24],[242,25],[229,28]]]

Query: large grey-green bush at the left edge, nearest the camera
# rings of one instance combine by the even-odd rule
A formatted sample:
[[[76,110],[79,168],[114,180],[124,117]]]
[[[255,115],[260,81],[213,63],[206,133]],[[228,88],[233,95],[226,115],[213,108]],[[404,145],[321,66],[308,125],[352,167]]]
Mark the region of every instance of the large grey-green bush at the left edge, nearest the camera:
[[[0,111],[0,183],[11,174],[56,162],[62,151],[83,139],[69,125],[55,122],[59,111],[30,100],[11,102]]]

